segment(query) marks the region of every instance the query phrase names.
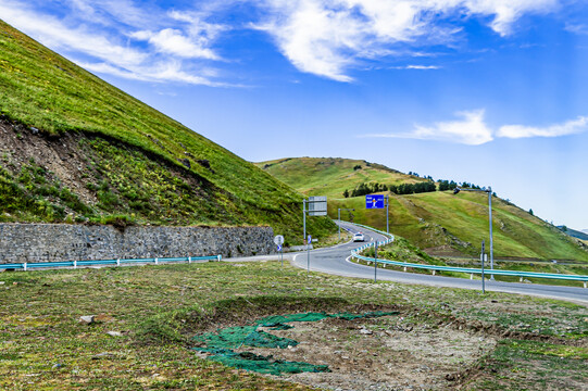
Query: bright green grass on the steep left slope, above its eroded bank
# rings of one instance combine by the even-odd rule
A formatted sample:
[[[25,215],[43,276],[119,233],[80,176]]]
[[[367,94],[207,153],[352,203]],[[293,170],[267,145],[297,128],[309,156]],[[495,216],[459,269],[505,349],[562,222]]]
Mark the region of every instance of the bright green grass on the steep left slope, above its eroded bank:
[[[1,21],[0,112],[51,135],[82,131],[111,137],[179,168],[184,167],[178,160],[187,159],[191,174],[216,187],[223,202],[233,203],[220,210],[233,215],[217,220],[272,224],[282,231],[301,225],[297,213],[301,197],[291,188]],[[212,171],[198,160],[208,160]],[[209,217],[208,222],[214,219]],[[311,224],[330,228],[326,222]]]

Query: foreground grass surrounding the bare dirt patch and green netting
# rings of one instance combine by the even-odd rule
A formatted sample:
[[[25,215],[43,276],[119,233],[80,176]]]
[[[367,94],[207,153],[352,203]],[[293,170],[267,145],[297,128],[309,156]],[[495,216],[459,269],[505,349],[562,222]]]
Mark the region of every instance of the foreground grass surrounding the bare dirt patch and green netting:
[[[399,310],[406,324],[523,341],[524,349],[505,340],[480,361],[496,373],[468,378],[472,389],[492,380],[553,387],[586,370],[588,310],[551,300],[309,276],[279,262],[5,273],[0,281],[0,389],[308,390],[200,360],[189,339],[267,315],[362,305]],[[82,315],[100,317],[87,326]],[[527,354],[559,364],[531,382],[502,377],[527,365],[510,357]]]

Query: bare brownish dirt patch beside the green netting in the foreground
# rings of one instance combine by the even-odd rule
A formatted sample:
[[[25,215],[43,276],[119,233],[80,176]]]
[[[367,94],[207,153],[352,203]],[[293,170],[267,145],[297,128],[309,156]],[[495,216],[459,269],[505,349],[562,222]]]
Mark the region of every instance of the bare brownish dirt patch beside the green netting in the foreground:
[[[436,390],[446,376],[463,371],[491,351],[492,337],[450,328],[413,325],[402,316],[292,323],[289,330],[262,330],[299,342],[288,349],[240,351],[276,360],[328,365],[330,373],[284,375],[280,379],[338,391]]]

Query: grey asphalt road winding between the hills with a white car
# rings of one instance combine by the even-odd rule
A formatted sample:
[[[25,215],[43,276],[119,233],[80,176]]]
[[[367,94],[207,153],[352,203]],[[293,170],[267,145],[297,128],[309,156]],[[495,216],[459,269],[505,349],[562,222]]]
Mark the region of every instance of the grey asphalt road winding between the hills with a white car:
[[[384,236],[368,229],[351,224],[341,224],[341,227],[365,235],[365,241],[384,240]],[[374,279],[374,267],[358,265],[349,261],[352,249],[362,243],[348,242],[328,249],[318,249],[310,252],[310,269],[337,276]],[[273,257],[275,258],[275,256]],[[308,254],[297,253],[288,256],[290,262],[300,268],[309,267]],[[286,260],[286,256],[285,256]],[[433,287],[462,288],[481,290],[480,280],[468,278],[441,277],[424,274],[412,274],[378,268],[377,279],[403,283],[425,285]],[[530,294],[541,298],[560,299],[588,305],[588,289],[574,287],[559,287],[535,283],[486,281],[487,291]]]

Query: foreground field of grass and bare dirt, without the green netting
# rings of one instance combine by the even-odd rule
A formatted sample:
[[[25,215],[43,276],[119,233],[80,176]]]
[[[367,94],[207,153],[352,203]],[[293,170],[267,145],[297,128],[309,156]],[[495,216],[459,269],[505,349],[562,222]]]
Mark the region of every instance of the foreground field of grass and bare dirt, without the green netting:
[[[586,307],[279,262],[2,273],[0,295],[5,390],[583,390],[588,378]],[[196,335],[264,316],[375,310],[399,314],[268,331],[300,342],[275,358],[326,374],[262,376],[190,349]]]

